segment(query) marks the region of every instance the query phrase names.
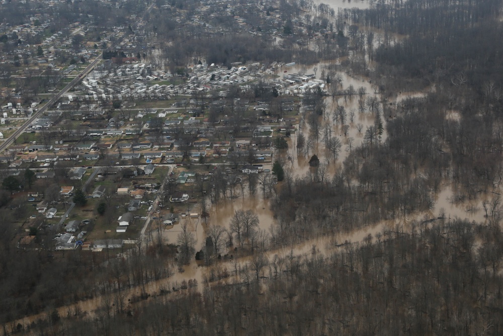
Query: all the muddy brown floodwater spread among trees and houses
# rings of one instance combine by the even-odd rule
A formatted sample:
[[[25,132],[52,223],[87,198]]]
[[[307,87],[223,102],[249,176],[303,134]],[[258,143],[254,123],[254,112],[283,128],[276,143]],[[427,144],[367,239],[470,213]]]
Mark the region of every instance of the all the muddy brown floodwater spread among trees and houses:
[[[315,0],[316,4],[325,3],[331,6],[336,12],[338,9],[344,8],[353,8],[357,7],[360,9],[368,8],[373,1],[361,1],[361,0]],[[152,61],[156,61],[163,65],[162,60],[160,59],[159,52],[152,52],[150,57]],[[283,71],[287,71],[290,73],[314,73],[316,72],[316,78],[320,78],[321,71],[324,67],[326,67],[328,63],[323,62],[317,65],[310,66],[302,66],[295,65],[289,68],[282,69]],[[316,71],[314,71],[316,68]],[[284,73],[284,72],[283,72]],[[381,99],[377,93],[374,92],[374,88],[368,79],[365,78],[354,78],[349,76],[344,72],[337,72],[337,74],[341,77],[341,89],[346,89],[349,86],[353,86],[357,91],[358,88],[365,88],[364,99],[368,97],[376,97],[380,102]],[[332,83],[332,85],[334,85]],[[398,93],[394,102],[398,103],[403,101],[409,97],[425,97],[425,93]],[[298,139],[298,134],[302,133],[304,137],[307,139],[311,134],[311,130],[307,122],[301,123],[301,125],[297,125],[297,131],[292,133],[292,136],[288,139],[289,149],[283,153],[280,153],[280,157],[282,161],[285,163],[286,169],[290,170],[294,177],[302,178],[304,177],[308,171],[309,167],[309,158],[312,154],[317,154],[320,162],[327,165],[327,173],[328,179],[330,179],[334,174],[337,173],[338,170],[342,169],[342,164],[344,159],[349,155],[351,151],[351,147],[357,147],[362,144],[364,141],[365,131],[368,127],[374,125],[374,115],[367,110],[364,113],[360,113],[359,110],[359,96],[358,94],[353,95],[352,97],[344,97],[344,96],[335,96],[332,98],[328,95],[325,98],[326,103],[326,115],[325,117],[320,117],[322,119],[323,124],[328,124],[331,130],[332,137],[338,137],[341,140],[342,148],[339,153],[337,160],[331,160],[329,163],[326,163],[327,150],[323,144],[323,138],[320,135],[318,141],[313,144],[313,147],[309,150],[309,152],[301,151],[297,153],[296,144]],[[348,113],[346,125],[349,126],[349,130],[347,134],[343,133],[343,127],[339,123],[333,121],[332,113],[337,109],[338,106],[343,106]],[[354,113],[354,119],[350,120],[350,113]],[[301,115],[308,113],[307,111],[301,109]],[[459,113],[457,111],[451,111],[447,118],[451,118],[454,120],[459,119]],[[384,129],[386,118],[383,118]],[[361,125],[361,128],[360,126]],[[360,130],[359,130],[360,128]],[[386,140],[386,132],[382,134],[380,141],[384,142]],[[276,154],[275,154],[276,155]],[[265,165],[264,169],[271,169],[271,165]],[[239,192],[236,194],[240,195]],[[197,216],[194,218],[187,217],[181,218],[180,222],[177,222],[175,225],[161,225],[161,234],[164,243],[177,243],[177,237],[182,232],[182,225],[187,224],[187,230],[194,233],[196,237],[196,250],[199,250],[203,247],[206,239],[206,229],[209,225],[219,225],[229,228],[229,223],[232,219],[234,213],[238,210],[252,210],[259,217],[259,228],[265,231],[269,231],[269,228],[272,225],[275,225],[274,214],[271,211],[270,200],[264,199],[262,196],[261,186],[257,186],[256,195],[249,195],[246,191],[244,196],[239,196],[238,198],[234,198],[232,200],[227,199],[216,205],[209,206],[209,217],[206,219],[201,216]],[[198,213],[198,207],[194,206],[191,209],[191,212]],[[372,237],[376,237],[378,233],[383,232],[384,229],[393,230],[396,225],[402,225],[406,230],[407,223],[417,220],[421,221],[422,219],[437,219],[442,214],[445,220],[451,220],[454,218],[468,219],[470,221],[476,222],[484,222],[486,218],[484,217],[484,210],[481,206],[481,200],[459,200],[455,191],[451,188],[450,185],[444,185],[441,187],[439,193],[436,195],[435,205],[430,212],[426,213],[413,213],[410,216],[407,216],[405,219],[397,219],[396,221],[382,221],[376,223],[375,225],[369,225],[367,227],[354,230],[352,232],[334,232],[332,234],[326,234],[322,237],[308,239],[305,242],[300,244],[285,246],[282,248],[274,248],[265,251],[266,257],[272,261],[276,256],[277,257],[298,257],[303,255],[309,255],[313,250],[319,251],[325,255],[329,255],[332,251],[335,251],[339,248],[344,248],[347,243],[359,243],[362,242],[365,238],[370,235]],[[155,235],[157,231],[155,228],[150,228],[152,235]],[[154,238],[155,241],[155,238]],[[174,274],[166,279],[158,280],[155,282],[151,282],[145,284],[144,286],[138,286],[131,289],[124,290],[124,295],[127,298],[132,298],[135,296],[139,296],[142,291],[145,291],[152,297],[156,295],[161,295],[161,292],[166,290],[172,290],[173,288],[178,289],[180,284],[184,281],[196,280],[198,289],[202,288],[202,284],[207,282],[210,277],[210,273],[215,269],[226,269],[230,274],[229,277],[226,277],[220,282],[231,283],[234,281],[239,281],[239,279],[235,276],[236,272],[233,273],[233,269],[239,269],[244,267],[244,265],[249,261],[249,257],[236,258],[233,261],[217,261],[215,265],[210,267],[202,266],[201,264],[196,263],[194,259],[192,259],[191,263],[185,266],[182,272],[177,271],[174,267]],[[115,294],[111,294],[112,296]],[[168,294],[170,295],[170,294]],[[127,299],[126,299],[127,301]],[[81,301],[76,304],[68,305],[66,307],[58,308],[59,314],[61,316],[71,315],[74,311],[80,310],[83,312],[85,316],[90,318],[96,317],[96,311],[102,306],[103,298],[96,297],[93,299],[89,299],[86,301]],[[27,326],[33,321],[36,321],[39,318],[47,318],[47,313],[41,313],[38,315],[33,315],[29,317],[25,317],[14,323],[18,322]]]

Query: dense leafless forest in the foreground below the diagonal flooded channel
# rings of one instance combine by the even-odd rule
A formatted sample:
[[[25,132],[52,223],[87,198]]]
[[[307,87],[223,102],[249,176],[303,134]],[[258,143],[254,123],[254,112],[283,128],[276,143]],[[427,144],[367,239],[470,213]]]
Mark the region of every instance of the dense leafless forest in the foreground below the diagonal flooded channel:
[[[304,257],[252,261],[233,285],[160,295],[125,313],[104,303],[96,321],[53,322],[51,332],[501,334],[499,226],[443,219],[406,226],[326,256],[313,246]]]

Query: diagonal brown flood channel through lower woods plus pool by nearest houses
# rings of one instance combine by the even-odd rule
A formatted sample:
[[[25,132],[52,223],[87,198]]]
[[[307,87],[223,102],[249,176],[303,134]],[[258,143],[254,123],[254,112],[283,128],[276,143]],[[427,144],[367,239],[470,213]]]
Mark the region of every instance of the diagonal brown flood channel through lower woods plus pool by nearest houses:
[[[282,248],[270,249],[265,252],[266,257],[272,261],[275,256],[280,258],[285,258],[287,256],[297,257],[297,256],[308,256],[312,253],[313,249],[319,253],[328,255],[331,251],[336,250],[338,248],[342,248],[345,243],[359,243],[362,242],[369,234],[371,234],[374,239],[377,233],[383,232],[384,228],[393,229],[395,225],[401,224],[404,225],[404,230],[406,231],[407,223],[409,223],[413,219],[420,219],[426,217],[428,219],[436,218],[440,209],[444,209],[445,218],[453,219],[455,217],[461,219],[469,219],[475,221],[484,221],[484,212],[480,207],[480,200],[471,200],[464,202],[455,202],[454,200],[454,192],[452,188],[449,186],[444,186],[437,197],[437,202],[435,204],[435,208],[430,213],[418,213],[414,214],[411,218],[407,218],[405,223],[403,222],[391,222],[391,221],[382,221],[375,225],[369,225],[364,228],[360,228],[358,230],[354,230],[352,232],[346,233],[334,233],[331,235],[324,235],[322,237],[308,239],[305,242],[296,244],[295,246],[287,246]],[[211,209],[209,222],[215,225],[221,225],[224,227],[228,227],[230,219],[234,214],[234,211],[237,210],[253,210],[257,212],[260,219],[260,228],[268,230],[268,228],[274,224],[273,213],[269,209],[269,201],[264,200],[260,195],[256,195],[255,197],[251,197],[245,194],[244,198],[234,199],[233,201],[226,201],[221,203],[219,206],[214,206]],[[178,228],[177,228],[178,226]],[[199,223],[196,227],[194,222],[191,222],[189,225],[189,229],[192,229],[198,238],[198,246],[201,246],[202,241],[204,241],[204,229],[206,225],[203,223]],[[170,226],[166,226],[164,232],[170,232],[170,241],[181,231],[180,224],[176,224],[170,228]],[[176,240],[175,240],[176,241]],[[211,267],[200,266],[196,261],[192,261],[190,265],[187,265],[183,268],[183,272],[176,272],[171,277],[166,279],[161,279],[159,281],[150,282],[145,284],[144,286],[137,286],[131,289],[125,289],[123,291],[126,302],[128,299],[131,299],[134,296],[139,296],[142,291],[148,293],[151,297],[156,295],[161,295],[162,290],[172,290],[173,288],[179,289],[181,283],[189,280],[195,279],[198,283],[198,288],[201,289],[201,284],[203,284],[208,278],[212,271],[218,272],[218,270],[226,269],[230,276],[219,280],[219,282],[223,283],[231,283],[233,281],[239,281],[239,279],[235,276],[235,273],[232,272],[234,269],[241,269],[245,266],[245,264],[249,261],[249,257],[237,258],[235,261],[228,262],[218,262],[216,265]],[[217,270],[217,271],[215,271]],[[112,297],[115,294],[111,294]],[[102,306],[102,297],[96,297],[93,299],[80,301],[75,304],[68,305],[66,307],[57,308],[59,314],[61,316],[67,316],[68,312],[71,314],[74,313],[75,309],[78,307],[84,316],[89,318],[96,317],[96,311]],[[18,321],[15,321],[13,325],[17,325],[17,323],[21,323],[25,326],[30,324],[33,321],[38,319],[47,318],[47,313],[41,313],[37,315],[27,316]]]

